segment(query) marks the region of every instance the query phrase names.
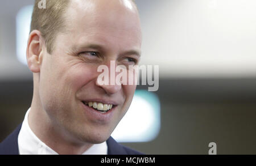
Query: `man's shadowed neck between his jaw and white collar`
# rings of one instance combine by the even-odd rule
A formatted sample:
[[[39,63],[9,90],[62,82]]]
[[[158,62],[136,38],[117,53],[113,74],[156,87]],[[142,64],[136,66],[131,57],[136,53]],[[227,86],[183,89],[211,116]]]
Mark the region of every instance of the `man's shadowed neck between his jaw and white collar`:
[[[40,100],[35,98],[34,94],[30,114],[28,114],[28,125],[40,141],[61,155],[80,155],[92,147],[93,144],[73,138],[63,127],[54,123],[42,104],[38,102]]]

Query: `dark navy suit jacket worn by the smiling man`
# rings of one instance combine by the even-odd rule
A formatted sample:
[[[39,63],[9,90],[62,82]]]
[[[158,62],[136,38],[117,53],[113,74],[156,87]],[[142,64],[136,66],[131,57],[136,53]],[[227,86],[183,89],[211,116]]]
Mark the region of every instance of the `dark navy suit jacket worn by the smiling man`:
[[[0,155],[19,155],[18,135],[22,124],[20,124],[2,143],[0,143]],[[142,155],[141,152],[131,150],[122,146],[110,137],[108,144],[108,155]]]

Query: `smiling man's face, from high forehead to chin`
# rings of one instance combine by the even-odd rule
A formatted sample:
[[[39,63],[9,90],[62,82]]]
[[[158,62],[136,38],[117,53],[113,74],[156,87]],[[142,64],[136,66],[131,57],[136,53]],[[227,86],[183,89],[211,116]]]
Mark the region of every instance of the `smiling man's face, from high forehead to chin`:
[[[110,71],[110,61],[137,64],[139,56],[131,51],[141,49],[138,14],[130,1],[74,0],[65,13],[65,24],[67,31],[57,35],[52,54],[43,55],[42,107],[50,122],[69,138],[101,143],[125,115],[136,86],[101,86],[97,68],[106,65]],[[113,108],[101,113],[86,105],[90,101],[113,104]]]

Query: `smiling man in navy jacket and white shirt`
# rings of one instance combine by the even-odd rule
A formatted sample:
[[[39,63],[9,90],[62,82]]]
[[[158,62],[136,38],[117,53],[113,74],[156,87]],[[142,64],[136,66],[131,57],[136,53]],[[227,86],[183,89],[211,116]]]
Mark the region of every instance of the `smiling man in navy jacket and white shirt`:
[[[136,85],[100,84],[97,68],[137,65],[141,27],[131,0],[35,1],[27,45],[34,93],[0,154],[140,154],[110,134]],[[114,73],[117,75],[118,73]]]

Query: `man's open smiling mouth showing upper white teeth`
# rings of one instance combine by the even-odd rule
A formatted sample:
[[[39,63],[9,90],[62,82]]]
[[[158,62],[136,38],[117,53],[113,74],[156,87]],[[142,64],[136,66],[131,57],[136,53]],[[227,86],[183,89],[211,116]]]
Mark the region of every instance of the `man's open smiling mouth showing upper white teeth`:
[[[96,101],[82,101],[82,103],[88,107],[93,108],[94,110],[97,110],[100,113],[107,113],[117,106],[114,104],[100,103]]]

